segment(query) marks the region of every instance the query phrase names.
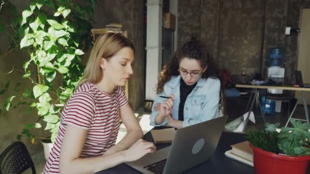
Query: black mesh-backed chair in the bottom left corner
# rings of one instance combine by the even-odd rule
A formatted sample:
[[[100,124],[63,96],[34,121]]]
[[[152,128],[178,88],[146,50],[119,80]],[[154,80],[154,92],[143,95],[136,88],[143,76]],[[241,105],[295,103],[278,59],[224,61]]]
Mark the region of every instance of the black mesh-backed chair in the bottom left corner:
[[[19,174],[31,168],[32,173],[36,173],[35,164],[31,156],[21,141],[13,142],[0,155],[0,174]]]

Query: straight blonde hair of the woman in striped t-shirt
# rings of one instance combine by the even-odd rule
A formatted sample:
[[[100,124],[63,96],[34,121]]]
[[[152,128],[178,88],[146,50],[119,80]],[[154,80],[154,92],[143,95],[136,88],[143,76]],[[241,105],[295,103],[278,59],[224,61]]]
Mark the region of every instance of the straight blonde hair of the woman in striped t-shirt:
[[[84,76],[77,86],[84,82],[99,82],[104,75],[100,68],[101,58],[104,57],[109,61],[115,53],[124,47],[131,48],[135,52],[133,43],[121,34],[106,33],[100,35],[91,50],[89,60],[84,70]]]

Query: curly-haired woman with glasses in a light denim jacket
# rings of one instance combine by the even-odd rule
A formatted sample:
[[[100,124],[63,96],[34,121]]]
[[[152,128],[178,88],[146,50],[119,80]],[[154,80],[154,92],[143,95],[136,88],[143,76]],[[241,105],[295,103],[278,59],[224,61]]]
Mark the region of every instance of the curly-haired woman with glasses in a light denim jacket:
[[[192,37],[160,74],[150,124],[179,129],[218,117],[220,88],[210,54]]]

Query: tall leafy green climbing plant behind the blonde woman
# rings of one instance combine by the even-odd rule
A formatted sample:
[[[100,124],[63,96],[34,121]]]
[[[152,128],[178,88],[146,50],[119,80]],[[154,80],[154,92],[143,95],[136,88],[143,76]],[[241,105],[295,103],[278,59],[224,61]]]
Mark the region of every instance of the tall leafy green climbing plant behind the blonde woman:
[[[10,2],[4,3],[12,7]],[[22,78],[33,84],[33,89],[25,89],[21,96],[11,96],[5,108],[9,110],[23,103],[29,105],[26,112],[36,108],[38,114],[37,121],[27,123],[17,139],[25,136],[32,143],[36,138],[46,139],[32,133],[34,129],[44,128],[50,132],[47,139],[54,141],[61,108],[83,75],[82,50],[87,50],[92,41],[90,22],[96,3],[96,0],[87,0],[85,5],[71,0],[33,0],[20,18],[3,25],[11,30],[15,49],[26,49],[29,53],[29,60],[19,71],[23,72]],[[35,72],[28,68],[31,64],[36,67]]]

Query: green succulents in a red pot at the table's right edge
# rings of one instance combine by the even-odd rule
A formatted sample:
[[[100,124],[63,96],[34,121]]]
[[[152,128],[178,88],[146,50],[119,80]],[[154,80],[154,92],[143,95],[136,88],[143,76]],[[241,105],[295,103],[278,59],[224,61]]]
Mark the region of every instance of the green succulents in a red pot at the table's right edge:
[[[293,128],[266,123],[260,131],[250,131],[256,173],[305,173],[310,160],[310,125],[291,119]]]

